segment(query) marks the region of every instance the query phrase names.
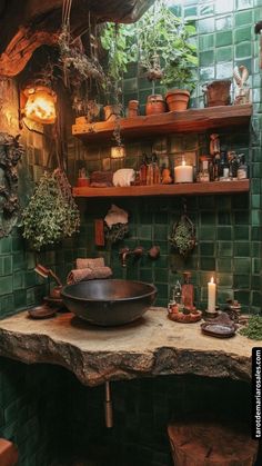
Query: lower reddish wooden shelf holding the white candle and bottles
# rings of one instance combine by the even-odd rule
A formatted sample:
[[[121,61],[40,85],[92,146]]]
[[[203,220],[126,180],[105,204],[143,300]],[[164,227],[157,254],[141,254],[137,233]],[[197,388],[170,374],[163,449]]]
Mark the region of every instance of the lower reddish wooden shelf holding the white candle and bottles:
[[[248,192],[250,180],[130,186],[127,188],[73,188],[75,197],[209,196]]]

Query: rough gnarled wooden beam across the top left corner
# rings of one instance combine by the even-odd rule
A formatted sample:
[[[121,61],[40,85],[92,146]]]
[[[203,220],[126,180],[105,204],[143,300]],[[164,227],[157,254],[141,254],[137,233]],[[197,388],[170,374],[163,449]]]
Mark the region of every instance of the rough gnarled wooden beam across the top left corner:
[[[98,21],[134,22],[154,0],[74,0],[72,36],[88,29],[89,11]],[[0,76],[18,75],[40,46],[52,46],[61,28],[63,0],[10,0],[0,3]]]

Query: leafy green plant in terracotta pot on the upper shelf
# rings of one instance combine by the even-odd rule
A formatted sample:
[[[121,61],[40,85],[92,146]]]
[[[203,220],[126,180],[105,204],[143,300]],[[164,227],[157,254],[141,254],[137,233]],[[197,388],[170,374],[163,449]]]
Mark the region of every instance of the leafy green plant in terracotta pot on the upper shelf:
[[[148,79],[153,82],[153,96],[158,97],[154,95],[157,80],[167,89],[177,88],[172,93],[167,93],[170,110],[174,109],[173,96],[179,96],[180,101],[175,109],[185,109],[189,90],[194,88],[192,67],[198,65],[196,48],[189,41],[194,33],[195,28],[178,18],[164,0],[157,0],[138,21],[139,61],[147,70]],[[182,93],[178,88],[182,89]]]

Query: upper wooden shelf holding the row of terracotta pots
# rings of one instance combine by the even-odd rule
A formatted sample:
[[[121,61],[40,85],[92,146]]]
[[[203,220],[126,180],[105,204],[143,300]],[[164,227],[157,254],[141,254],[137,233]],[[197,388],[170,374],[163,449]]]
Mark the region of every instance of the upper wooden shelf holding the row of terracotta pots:
[[[171,132],[203,132],[208,129],[248,126],[252,105],[209,107],[177,112],[150,115],[147,117],[121,118],[120,128],[124,138],[134,136],[164,135]],[[77,118],[72,133],[84,141],[110,139],[114,130],[113,121],[85,122]]]

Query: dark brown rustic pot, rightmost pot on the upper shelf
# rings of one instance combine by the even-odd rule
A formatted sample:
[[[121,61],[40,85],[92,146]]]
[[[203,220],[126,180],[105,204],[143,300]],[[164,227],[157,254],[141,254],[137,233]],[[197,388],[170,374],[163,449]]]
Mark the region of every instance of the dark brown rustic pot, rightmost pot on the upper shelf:
[[[203,86],[205,107],[230,105],[230,79],[219,79]]]

